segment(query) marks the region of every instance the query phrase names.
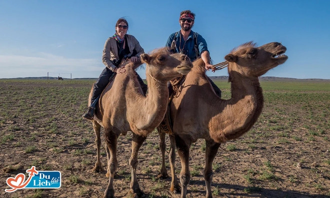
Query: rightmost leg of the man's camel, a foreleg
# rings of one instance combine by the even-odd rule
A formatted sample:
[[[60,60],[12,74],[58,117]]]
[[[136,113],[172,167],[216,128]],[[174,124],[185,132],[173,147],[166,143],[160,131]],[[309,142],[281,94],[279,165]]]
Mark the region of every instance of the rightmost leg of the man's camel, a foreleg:
[[[206,198],[212,198],[211,184],[213,178],[212,163],[216,156],[217,150],[220,144],[215,143],[213,140],[205,140],[206,151],[205,151],[205,169],[204,169],[204,180],[206,184]]]

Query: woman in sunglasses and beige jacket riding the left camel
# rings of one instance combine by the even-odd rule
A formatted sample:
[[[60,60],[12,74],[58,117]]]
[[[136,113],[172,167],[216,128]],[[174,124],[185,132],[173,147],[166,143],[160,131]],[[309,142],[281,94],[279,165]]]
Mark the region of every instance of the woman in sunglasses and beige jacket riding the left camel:
[[[131,62],[139,61],[139,57],[144,53],[136,38],[132,35],[126,34],[128,29],[128,22],[124,18],[119,18],[115,23],[115,33],[109,37],[104,44],[102,62],[105,65],[102,73],[93,85],[93,92],[90,101],[90,106],[85,110],[82,117],[92,120],[94,117],[95,106],[103,89],[113,78],[114,73],[122,74],[126,71],[124,66],[119,67],[122,59],[129,58]],[[136,73],[137,79],[146,93],[146,85],[143,83],[141,77]]]

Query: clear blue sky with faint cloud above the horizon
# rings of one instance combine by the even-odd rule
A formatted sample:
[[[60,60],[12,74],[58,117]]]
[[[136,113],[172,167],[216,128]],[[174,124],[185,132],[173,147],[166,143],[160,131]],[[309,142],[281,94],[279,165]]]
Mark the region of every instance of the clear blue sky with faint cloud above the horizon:
[[[329,8],[328,0],[0,0],[0,78],[96,78],[119,17],[149,52],[165,45],[180,28],[180,11],[190,9],[213,63],[247,41],[278,41],[289,58],[265,76],[330,79]]]

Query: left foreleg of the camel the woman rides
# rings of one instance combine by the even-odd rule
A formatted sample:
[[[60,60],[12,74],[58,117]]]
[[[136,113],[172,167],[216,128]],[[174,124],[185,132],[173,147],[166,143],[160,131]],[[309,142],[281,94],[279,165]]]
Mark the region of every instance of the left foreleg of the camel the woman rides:
[[[108,148],[108,152],[110,154],[110,158],[107,163],[107,169],[110,171],[109,182],[107,184],[106,190],[104,192],[104,198],[114,198],[114,190],[113,190],[113,178],[115,171],[118,167],[117,161],[117,134],[113,133],[110,130],[104,129],[104,139],[106,146]]]

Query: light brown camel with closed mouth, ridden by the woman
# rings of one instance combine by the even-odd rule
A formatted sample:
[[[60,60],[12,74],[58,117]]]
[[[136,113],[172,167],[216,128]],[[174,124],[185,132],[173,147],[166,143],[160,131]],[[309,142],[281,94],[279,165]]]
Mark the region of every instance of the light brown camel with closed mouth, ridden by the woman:
[[[107,170],[109,182],[104,192],[104,198],[113,198],[113,178],[118,166],[116,149],[117,138],[127,131],[133,133],[132,153],[129,159],[131,169],[130,193],[133,197],[143,197],[136,179],[137,154],[143,141],[163,119],[168,103],[166,82],[186,75],[192,68],[188,57],[182,54],[169,54],[165,49],[159,49],[148,54],[141,54],[141,60],[146,63],[146,81],[148,93],[143,95],[137,81],[134,68],[139,63],[125,62],[126,72],[117,74],[112,87],[108,86],[99,101],[99,111],[92,120],[97,146],[97,161],[93,170],[100,170],[99,159],[100,127],[104,128],[106,142]],[[90,96],[89,96],[90,103]]]

